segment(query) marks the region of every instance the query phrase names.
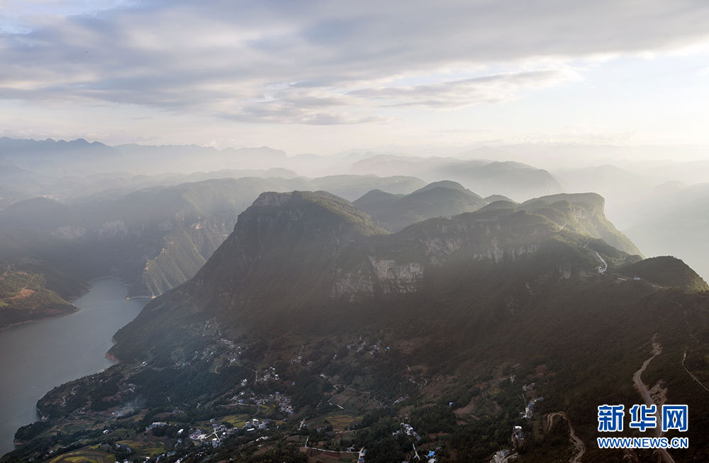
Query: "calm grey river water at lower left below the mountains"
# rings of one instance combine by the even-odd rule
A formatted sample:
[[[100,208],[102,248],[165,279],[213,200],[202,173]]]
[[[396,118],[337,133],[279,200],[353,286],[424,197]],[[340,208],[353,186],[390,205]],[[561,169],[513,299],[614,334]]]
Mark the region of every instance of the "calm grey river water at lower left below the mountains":
[[[100,279],[74,301],[81,308],[0,331],[0,455],[13,450],[22,425],[38,420],[35,405],[55,386],[111,366],[111,338],[133,320],[147,299],[125,300],[118,279]]]

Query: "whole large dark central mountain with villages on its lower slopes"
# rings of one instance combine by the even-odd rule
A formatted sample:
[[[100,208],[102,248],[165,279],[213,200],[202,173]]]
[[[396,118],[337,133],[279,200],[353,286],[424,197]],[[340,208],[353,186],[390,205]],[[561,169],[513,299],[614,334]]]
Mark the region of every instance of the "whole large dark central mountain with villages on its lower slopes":
[[[596,238],[618,239],[601,213],[595,194],[501,200],[386,233],[323,191],[262,193],[193,278],[116,333],[121,363],[41,398],[43,421],[2,461],[124,445],[166,461],[351,459],[348,447],[374,463],[505,448],[520,462],[649,461],[596,445],[599,404],[627,409],[644,389],[688,405],[691,446],[669,454],[701,460],[705,285]]]

